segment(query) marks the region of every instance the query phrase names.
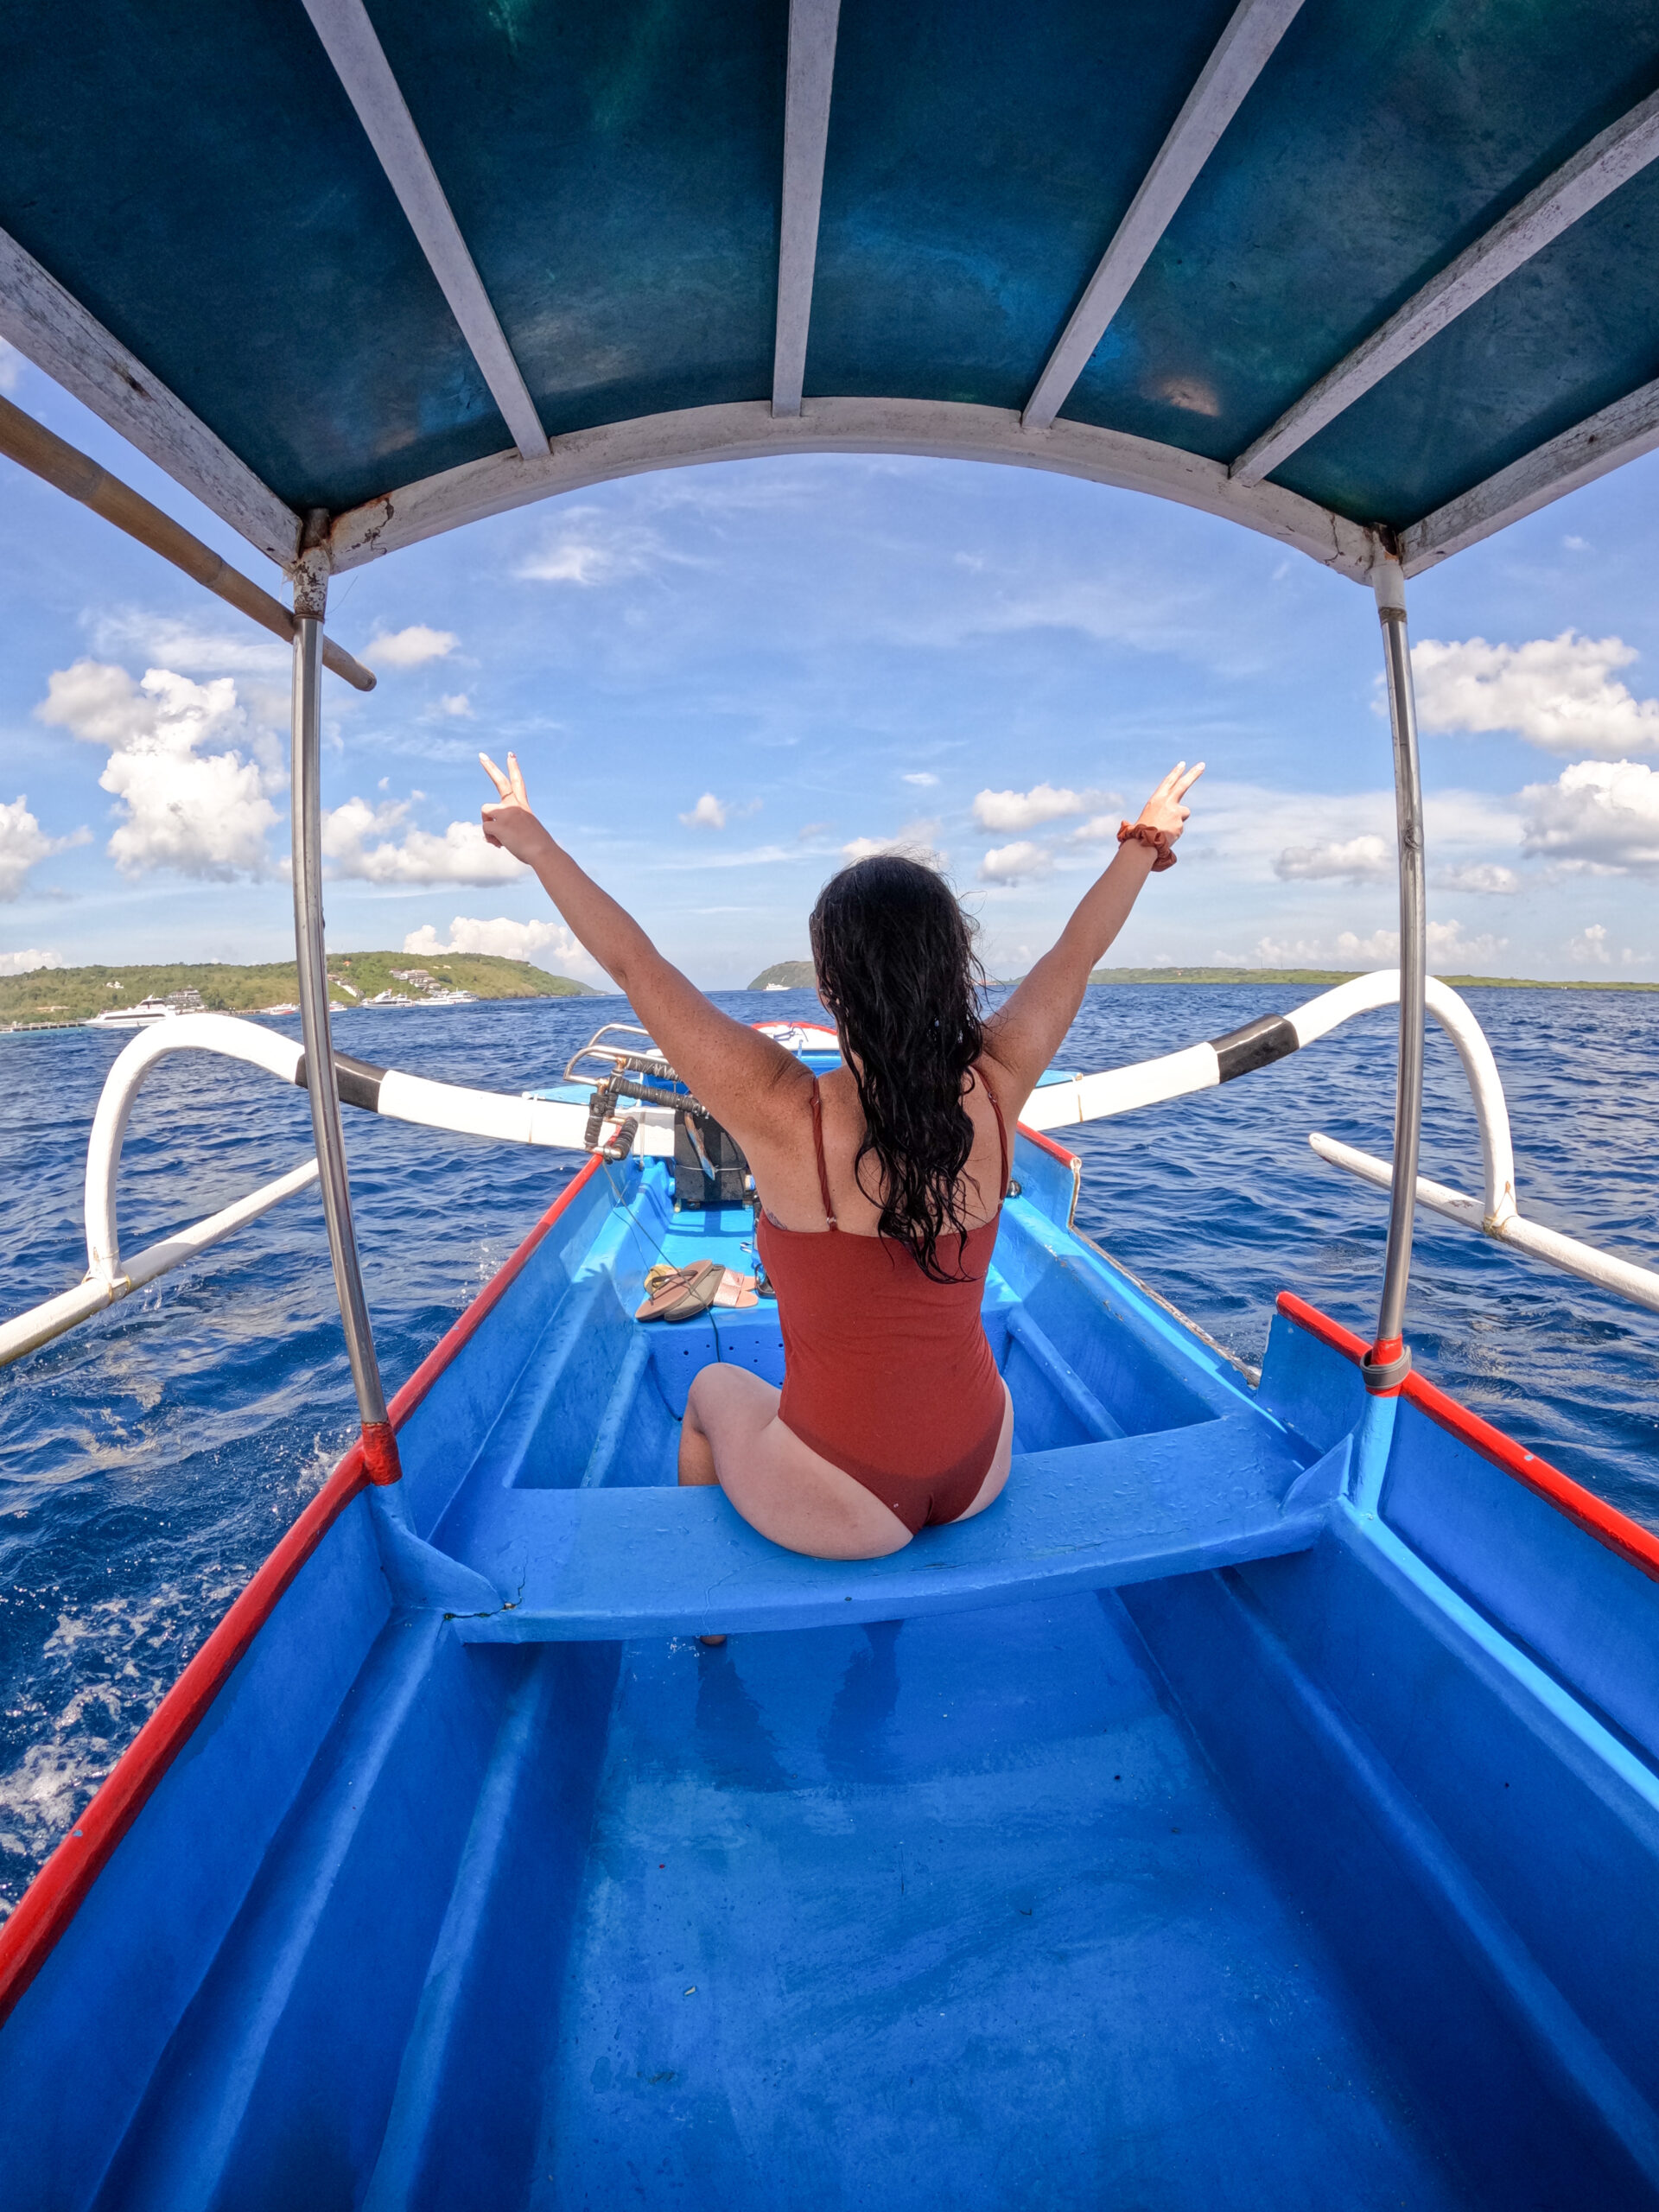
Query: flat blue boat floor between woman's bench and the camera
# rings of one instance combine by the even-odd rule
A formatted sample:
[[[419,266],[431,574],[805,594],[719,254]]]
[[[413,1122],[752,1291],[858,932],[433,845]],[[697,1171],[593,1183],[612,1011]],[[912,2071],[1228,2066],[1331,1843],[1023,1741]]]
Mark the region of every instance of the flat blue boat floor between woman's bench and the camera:
[[[544,2212],[1464,2201],[1110,1595],[626,1646],[560,2020]]]

